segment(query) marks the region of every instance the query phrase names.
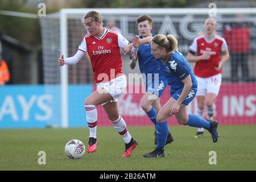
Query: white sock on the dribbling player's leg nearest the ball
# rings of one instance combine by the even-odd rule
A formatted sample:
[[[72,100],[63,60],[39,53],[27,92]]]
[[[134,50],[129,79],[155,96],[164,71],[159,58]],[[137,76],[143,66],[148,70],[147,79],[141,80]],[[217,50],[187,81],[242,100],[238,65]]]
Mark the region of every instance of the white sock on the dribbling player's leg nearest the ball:
[[[88,128],[90,130],[90,137],[96,137],[97,131],[97,109],[94,105],[84,105],[85,113],[86,113],[86,120],[88,123]]]

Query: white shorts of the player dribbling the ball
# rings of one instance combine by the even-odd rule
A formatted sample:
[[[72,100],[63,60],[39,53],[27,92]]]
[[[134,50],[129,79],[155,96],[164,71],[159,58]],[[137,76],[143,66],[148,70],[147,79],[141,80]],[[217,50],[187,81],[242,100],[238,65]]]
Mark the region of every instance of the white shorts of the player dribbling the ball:
[[[122,75],[108,82],[98,83],[97,90],[100,88],[104,88],[113,97],[113,100],[110,100],[108,102],[117,102],[118,97],[121,96],[121,94],[125,91],[126,85],[127,85],[126,76]],[[103,106],[108,102],[105,102],[101,105]]]

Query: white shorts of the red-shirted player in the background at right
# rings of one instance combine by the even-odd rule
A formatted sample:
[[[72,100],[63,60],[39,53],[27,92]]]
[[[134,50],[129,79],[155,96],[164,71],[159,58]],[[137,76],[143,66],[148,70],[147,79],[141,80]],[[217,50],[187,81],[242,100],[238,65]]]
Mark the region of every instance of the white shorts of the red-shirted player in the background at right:
[[[208,78],[196,76],[197,80],[197,96],[205,96],[207,93],[218,95],[221,86],[221,73]]]

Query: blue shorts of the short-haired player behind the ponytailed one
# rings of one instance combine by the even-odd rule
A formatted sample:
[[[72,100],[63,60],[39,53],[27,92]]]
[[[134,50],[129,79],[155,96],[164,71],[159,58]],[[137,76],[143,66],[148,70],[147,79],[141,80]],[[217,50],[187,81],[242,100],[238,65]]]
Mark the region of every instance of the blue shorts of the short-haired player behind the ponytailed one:
[[[146,92],[148,93],[152,93],[155,96],[161,97],[164,89],[166,89],[167,87],[167,80],[165,77],[159,77],[158,80],[154,79],[154,76],[152,77],[152,79],[145,79],[146,83],[144,82],[144,84],[146,85]]]

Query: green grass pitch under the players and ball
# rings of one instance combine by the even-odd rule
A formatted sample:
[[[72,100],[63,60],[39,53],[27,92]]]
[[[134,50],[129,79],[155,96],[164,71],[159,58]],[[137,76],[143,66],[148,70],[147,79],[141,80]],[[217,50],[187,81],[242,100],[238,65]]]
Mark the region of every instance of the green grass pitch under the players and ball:
[[[89,130],[6,129],[0,130],[0,170],[256,170],[256,125],[219,126],[217,143],[210,134],[196,139],[196,129],[170,127],[174,142],[164,158],[143,158],[154,150],[153,127],[129,127],[138,146],[130,158],[122,158],[125,143],[113,127],[97,129],[98,148],[82,159],[68,159],[65,144],[79,139],[87,146]],[[39,151],[46,152],[46,165],[39,165]],[[209,151],[217,152],[217,164],[210,165]]]

